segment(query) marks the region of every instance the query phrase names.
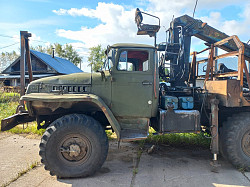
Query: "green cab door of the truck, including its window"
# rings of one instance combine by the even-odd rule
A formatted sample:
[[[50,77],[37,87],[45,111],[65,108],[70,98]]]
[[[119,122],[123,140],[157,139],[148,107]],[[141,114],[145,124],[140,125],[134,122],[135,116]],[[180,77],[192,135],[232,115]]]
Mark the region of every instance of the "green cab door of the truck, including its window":
[[[118,117],[151,117],[154,94],[154,53],[151,49],[117,51],[112,70],[111,110]]]

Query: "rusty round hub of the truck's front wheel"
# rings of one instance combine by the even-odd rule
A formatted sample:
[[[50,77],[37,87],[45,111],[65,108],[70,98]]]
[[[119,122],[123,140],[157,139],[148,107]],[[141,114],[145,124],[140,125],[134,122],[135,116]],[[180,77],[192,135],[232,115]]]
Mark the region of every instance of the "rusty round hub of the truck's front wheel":
[[[60,147],[64,159],[70,162],[84,161],[91,152],[87,139],[80,136],[66,137]]]

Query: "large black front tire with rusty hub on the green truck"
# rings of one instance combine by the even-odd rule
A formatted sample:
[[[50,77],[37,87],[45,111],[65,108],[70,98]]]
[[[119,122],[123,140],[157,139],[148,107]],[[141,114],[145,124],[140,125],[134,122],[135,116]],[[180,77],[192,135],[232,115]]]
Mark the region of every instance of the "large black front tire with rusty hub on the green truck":
[[[107,153],[104,128],[83,114],[55,120],[42,136],[39,152],[45,169],[60,178],[94,174],[103,165]]]

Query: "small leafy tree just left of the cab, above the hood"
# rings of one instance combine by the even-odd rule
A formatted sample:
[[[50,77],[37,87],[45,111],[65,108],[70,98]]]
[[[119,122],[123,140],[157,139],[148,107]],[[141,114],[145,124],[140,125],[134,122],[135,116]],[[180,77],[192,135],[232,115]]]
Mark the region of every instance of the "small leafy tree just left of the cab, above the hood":
[[[105,49],[102,49],[101,45],[98,45],[96,47],[91,47],[89,50],[88,66],[92,66],[92,70],[97,71],[104,63],[106,57]]]

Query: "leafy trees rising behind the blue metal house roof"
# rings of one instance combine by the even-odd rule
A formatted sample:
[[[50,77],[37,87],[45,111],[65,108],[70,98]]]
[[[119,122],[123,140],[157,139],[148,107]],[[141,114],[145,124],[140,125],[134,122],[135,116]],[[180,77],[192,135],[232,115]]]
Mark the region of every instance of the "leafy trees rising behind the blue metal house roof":
[[[50,44],[47,47],[42,47],[42,46],[37,46],[37,47],[31,47],[31,49],[40,51],[42,53],[47,53],[52,55],[53,49],[55,50],[55,56],[65,58],[75,64],[76,66],[82,62],[82,58],[79,56],[77,51],[73,48],[72,45],[66,44],[65,46],[59,44],[59,43],[54,43]]]

